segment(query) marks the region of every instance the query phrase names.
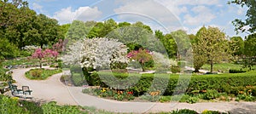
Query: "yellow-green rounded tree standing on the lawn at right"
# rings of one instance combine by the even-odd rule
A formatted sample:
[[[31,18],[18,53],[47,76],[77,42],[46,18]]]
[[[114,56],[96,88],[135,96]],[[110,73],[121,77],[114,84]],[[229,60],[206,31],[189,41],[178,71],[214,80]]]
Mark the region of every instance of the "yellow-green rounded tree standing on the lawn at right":
[[[195,54],[195,66],[202,66],[207,61],[211,65],[211,72],[214,63],[229,59],[230,50],[225,34],[217,27],[203,26],[197,33],[198,41],[193,45]],[[195,67],[197,70],[198,67]]]

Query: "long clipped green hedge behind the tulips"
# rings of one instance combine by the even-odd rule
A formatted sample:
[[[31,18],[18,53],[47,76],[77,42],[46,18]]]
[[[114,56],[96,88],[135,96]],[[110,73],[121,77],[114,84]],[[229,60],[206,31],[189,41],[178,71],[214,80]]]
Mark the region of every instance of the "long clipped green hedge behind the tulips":
[[[99,77],[98,74],[101,74],[101,77]],[[164,84],[161,83],[166,83],[166,81],[169,80],[165,92],[164,90],[161,90],[161,92],[164,92],[164,95],[172,95],[175,89],[177,89],[176,94],[183,94],[182,92],[184,88],[187,87],[186,94],[194,94],[193,91],[195,90],[203,92],[207,89],[217,90],[218,92],[225,92],[227,94],[238,94],[239,91],[251,89],[253,96],[256,96],[256,71],[249,71],[242,74],[193,75],[190,79],[189,86],[186,86],[186,80],[179,79],[179,75],[177,74],[160,74],[159,76],[154,77],[154,74],[140,75],[130,73],[129,77],[139,78],[138,82],[131,78],[129,82],[124,80],[119,81],[118,83],[114,83],[116,78],[125,79],[125,77],[128,77],[128,73],[113,73],[113,76],[116,78],[110,76],[112,76],[111,72],[100,71],[100,73],[93,72],[92,74],[85,76],[85,78],[90,85],[101,87],[112,85],[114,88],[118,88],[118,86],[119,88],[129,88],[135,95],[142,95],[147,92],[149,87],[151,87],[153,80],[159,80],[160,83],[154,85],[154,88],[150,90],[158,90],[161,86],[164,86]],[[177,85],[178,79],[180,83]],[[126,85],[132,86],[125,87]]]

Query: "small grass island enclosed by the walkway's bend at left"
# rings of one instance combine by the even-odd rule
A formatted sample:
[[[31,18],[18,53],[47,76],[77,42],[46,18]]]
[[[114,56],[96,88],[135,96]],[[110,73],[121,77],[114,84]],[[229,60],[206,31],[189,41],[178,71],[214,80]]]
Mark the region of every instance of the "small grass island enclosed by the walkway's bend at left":
[[[32,80],[45,80],[48,77],[61,72],[62,72],[61,69],[56,69],[56,70],[32,69],[30,71],[26,71],[25,76]]]

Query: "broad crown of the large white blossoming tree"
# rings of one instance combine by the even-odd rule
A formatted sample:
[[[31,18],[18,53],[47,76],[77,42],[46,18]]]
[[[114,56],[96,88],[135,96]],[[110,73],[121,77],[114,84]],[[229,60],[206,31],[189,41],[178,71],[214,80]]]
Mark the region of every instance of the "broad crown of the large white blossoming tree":
[[[126,54],[126,46],[115,39],[85,38],[71,45],[62,60],[65,64],[97,69],[113,63],[128,63]]]

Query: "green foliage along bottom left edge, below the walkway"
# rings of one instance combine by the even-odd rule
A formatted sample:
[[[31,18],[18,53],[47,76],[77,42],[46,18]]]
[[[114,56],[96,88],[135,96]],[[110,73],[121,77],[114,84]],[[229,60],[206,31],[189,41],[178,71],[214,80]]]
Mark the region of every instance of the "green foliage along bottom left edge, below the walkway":
[[[109,111],[97,110],[95,107],[79,105],[57,105],[55,101],[39,104],[33,101],[19,100],[17,97],[9,98],[0,95],[0,113],[11,114],[87,114],[87,113],[113,113]]]

